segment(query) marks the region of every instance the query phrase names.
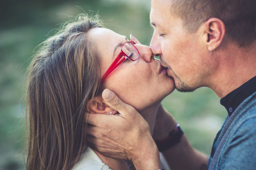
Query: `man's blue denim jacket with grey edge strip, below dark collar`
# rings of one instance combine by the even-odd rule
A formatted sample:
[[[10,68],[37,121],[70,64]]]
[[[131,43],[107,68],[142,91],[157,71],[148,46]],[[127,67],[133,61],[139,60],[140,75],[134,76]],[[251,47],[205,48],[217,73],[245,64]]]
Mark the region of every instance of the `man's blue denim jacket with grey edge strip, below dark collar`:
[[[256,169],[256,92],[225,119],[214,140],[208,169]]]

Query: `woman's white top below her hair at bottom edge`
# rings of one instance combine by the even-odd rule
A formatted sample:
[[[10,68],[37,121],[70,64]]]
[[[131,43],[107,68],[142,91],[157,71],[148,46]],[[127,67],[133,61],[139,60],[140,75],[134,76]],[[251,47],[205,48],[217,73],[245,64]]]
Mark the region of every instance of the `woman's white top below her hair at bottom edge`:
[[[97,154],[88,146],[81,160],[72,170],[111,170]]]

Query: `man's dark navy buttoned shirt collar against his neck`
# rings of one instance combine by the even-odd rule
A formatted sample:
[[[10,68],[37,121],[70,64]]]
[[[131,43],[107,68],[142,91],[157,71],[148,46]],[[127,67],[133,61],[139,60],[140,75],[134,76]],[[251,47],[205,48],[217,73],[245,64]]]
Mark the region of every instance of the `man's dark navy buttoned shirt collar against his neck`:
[[[228,115],[231,116],[236,108],[254,92],[256,92],[256,76],[220,99],[220,104],[227,109]]]

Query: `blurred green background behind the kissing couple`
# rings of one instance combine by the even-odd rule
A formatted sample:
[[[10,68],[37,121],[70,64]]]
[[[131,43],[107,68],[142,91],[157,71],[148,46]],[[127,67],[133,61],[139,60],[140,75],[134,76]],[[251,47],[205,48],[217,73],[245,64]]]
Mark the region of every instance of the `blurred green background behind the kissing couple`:
[[[53,29],[83,12],[98,12],[105,27],[133,33],[149,45],[150,0],[1,0],[0,5],[0,169],[24,169],[26,69],[34,48],[54,34]],[[95,13],[94,13],[95,14]],[[208,88],[193,93],[173,92],[163,101],[184,129],[191,144],[210,154],[226,111]]]

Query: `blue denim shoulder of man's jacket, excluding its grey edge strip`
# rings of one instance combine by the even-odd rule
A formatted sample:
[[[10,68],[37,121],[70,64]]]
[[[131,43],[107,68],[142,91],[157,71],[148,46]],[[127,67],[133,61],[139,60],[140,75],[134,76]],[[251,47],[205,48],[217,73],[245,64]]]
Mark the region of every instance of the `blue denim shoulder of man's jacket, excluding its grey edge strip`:
[[[256,108],[236,122],[219,155],[219,169],[255,169]]]

